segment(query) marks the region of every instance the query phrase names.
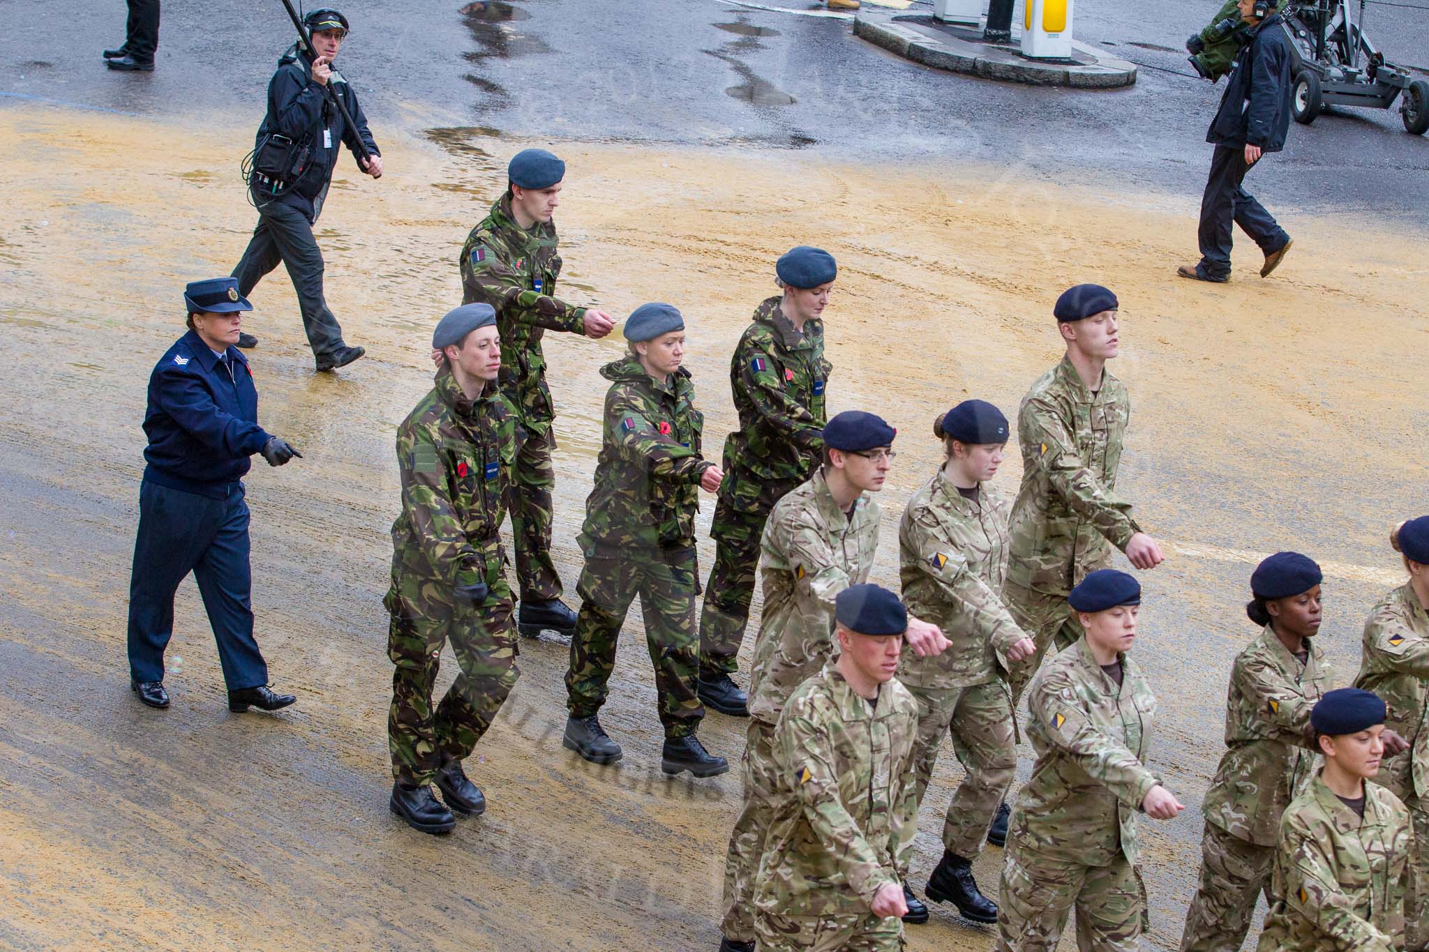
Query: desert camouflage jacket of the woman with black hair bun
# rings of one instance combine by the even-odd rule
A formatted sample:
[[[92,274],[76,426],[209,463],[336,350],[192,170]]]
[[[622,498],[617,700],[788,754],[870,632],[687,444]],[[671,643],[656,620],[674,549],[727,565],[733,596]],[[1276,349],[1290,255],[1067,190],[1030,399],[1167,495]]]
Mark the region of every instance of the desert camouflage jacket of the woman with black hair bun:
[[[1335,687],[1315,638],[1309,659],[1266,625],[1236,655],[1226,699],[1226,748],[1202,806],[1206,822],[1259,846],[1280,836],[1280,815],[1315,772],[1310,708]]]

